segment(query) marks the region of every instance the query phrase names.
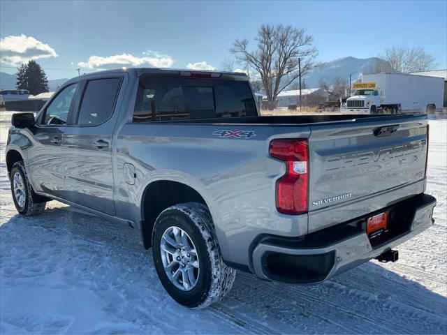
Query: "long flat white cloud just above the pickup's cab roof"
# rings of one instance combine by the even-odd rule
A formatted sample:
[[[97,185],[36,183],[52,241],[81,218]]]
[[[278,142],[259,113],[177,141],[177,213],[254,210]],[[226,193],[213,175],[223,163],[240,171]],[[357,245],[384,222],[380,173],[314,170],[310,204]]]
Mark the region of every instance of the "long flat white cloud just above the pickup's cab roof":
[[[143,52],[147,57],[135,57],[133,54],[115,54],[113,56],[101,57],[91,56],[88,61],[80,61],[78,66],[82,68],[119,68],[119,67],[138,67],[147,66],[149,68],[169,68],[173,65],[174,60],[166,54],[159,54],[158,52],[152,52],[147,54]]]

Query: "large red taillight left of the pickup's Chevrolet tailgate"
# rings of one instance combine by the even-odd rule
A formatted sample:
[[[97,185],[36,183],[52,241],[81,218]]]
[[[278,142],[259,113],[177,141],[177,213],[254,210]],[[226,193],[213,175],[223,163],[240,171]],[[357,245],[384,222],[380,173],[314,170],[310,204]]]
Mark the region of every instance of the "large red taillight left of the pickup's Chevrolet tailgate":
[[[277,180],[277,209],[284,214],[307,213],[309,147],[307,140],[272,140],[270,156],[286,163],[286,174]]]

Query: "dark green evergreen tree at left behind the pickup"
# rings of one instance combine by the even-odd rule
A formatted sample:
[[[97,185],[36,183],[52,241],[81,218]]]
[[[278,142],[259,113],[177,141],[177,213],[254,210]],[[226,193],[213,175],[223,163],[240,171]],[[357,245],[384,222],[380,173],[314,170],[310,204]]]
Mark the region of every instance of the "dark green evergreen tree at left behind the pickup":
[[[34,96],[48,91],[45,71],[36,61],[29,61],[17,69],[17,89],[27,89]]]

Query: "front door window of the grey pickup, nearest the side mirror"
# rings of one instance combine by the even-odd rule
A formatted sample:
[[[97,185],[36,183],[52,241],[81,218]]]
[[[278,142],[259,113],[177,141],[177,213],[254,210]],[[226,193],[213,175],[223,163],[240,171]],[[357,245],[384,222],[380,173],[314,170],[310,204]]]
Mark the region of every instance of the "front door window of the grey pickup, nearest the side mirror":
[[[47,107],[43,124],[47,126],[66,124],[77,91],[78,83],[71,84],[62,90]]]

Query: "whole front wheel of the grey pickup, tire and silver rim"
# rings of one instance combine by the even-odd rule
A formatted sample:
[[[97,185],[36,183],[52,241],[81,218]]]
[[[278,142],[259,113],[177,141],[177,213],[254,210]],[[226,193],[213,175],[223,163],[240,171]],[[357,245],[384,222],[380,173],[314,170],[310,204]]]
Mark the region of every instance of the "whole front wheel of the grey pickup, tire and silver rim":
[[[31,184],[27,176],[27,170],[22,161],[14,163],[10,171],[11,192],[15,209],[25,216],[41,213],[45,209],[46,202],[34,202]]]

